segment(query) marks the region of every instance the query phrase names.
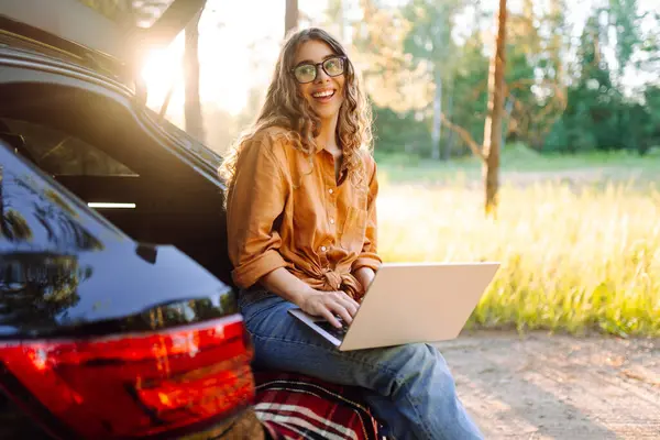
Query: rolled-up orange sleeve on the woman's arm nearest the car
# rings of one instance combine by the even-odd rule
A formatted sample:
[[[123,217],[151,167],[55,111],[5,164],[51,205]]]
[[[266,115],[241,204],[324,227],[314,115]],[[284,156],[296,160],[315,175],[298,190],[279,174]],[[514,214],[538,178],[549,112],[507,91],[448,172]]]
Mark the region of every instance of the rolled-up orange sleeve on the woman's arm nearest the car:
[[[227,200],[229,257],[232,277],[242,288],[287,263],[273,223],[285,202],[285,179],[267,135],[245,145]]]

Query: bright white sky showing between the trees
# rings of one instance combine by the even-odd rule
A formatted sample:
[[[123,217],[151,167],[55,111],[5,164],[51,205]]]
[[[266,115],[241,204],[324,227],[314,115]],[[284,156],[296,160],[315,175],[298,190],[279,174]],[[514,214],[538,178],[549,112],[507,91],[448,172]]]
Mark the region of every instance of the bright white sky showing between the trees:
[[[359,0],[344,0],[344,7]],[[393,4],[403,0],[385,0]],[[494,9],[496,0],[483,0]],[[573,33],[580,35],[582,25],[598,0],[570,1],[568,19],[574,23]],[[642,10],[651,10],[659,0],[638,0]],[[492,4],[491,4],[492,3]],[[519,10],[521,0],[509,0],[512,11]],[[299,0],[301,13],[321,18],[327,0]],[[232,114],[245,106],[251,87],[267,87],[279,43],[284,34],[285,0],[208,0],[199,32],[201,99],[213,102]],[[354,18],[354,13],[346,13]],[[174,82],[177,85],[170,101],[172,111],[183,108],[182,63],[183,35],[167,50],[154,51],[143,72],[150,87],[150,103],[157,106]],[[644,81],[636,74],[625,78],[630,85]]]

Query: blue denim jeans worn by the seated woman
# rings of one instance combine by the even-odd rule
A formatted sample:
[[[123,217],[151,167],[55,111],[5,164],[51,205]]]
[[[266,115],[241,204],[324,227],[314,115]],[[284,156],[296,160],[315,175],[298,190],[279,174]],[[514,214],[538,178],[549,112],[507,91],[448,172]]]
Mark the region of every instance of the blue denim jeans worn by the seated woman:
[[[428,344],[340,352],[287,314],[292,302],[264,290],[239,295],[255,366],[360,386],[395,439],[482,439],[457,396],[438,350]]]

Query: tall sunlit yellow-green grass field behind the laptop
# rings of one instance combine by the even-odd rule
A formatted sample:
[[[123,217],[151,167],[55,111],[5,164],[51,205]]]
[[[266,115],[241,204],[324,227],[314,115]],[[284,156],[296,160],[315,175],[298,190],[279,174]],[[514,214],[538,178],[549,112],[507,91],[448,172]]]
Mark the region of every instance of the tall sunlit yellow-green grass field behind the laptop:
[[[382,161],[380,252],[386,261],[502,262],[472,326],[660,337],[658,165],[640,160],[642,178],[629,178],[630,163],[607,162],[612,176],[575,184],[546,178],[583,168],[554,161],[540,177],[548,164],[505,166],[496,221],[484,218],[469,168],[427,164],[446,178],[429,185],[419,169]]]

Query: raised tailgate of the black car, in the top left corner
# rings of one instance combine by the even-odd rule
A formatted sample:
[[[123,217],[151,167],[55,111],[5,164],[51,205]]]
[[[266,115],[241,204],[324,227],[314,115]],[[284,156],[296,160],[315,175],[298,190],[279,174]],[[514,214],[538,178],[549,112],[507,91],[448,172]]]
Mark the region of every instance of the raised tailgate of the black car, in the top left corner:
[[[131,84],[140,77],[144,54],[168,45],[205,3],[206,0],[2,0],[0,16],[8,20],[4,26],[11,31],[91,58],[90,65],[100,73]]]

